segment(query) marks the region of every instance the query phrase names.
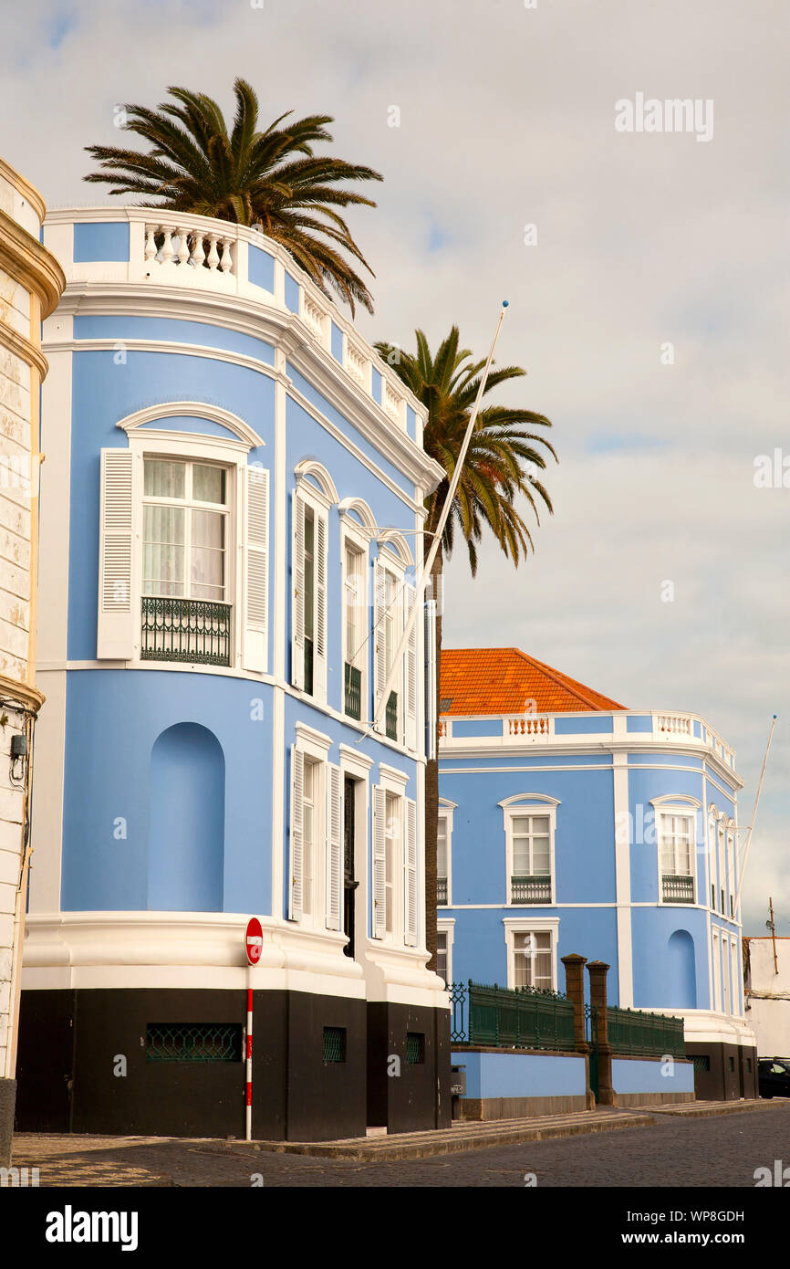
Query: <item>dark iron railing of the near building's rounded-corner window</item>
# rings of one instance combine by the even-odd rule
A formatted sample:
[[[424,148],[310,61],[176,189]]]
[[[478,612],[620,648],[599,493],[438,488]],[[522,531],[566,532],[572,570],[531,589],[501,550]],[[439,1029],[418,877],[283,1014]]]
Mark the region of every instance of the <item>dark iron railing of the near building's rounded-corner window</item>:
[[[142,596],[141,660],[231,664],[231,604]]]

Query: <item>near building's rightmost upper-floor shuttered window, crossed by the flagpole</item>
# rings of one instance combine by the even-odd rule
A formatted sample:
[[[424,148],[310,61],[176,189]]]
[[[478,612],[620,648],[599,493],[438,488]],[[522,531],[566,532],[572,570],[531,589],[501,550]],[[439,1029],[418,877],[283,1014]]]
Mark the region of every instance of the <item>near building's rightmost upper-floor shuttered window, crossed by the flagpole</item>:
[[[415,604],[415,588],[406,581],[406,561],[394,549],[379,543],[374,565],[373,605],[373,697],[375,708],[382,699],[405,623]],[[380,730],[399,745],[417,746],[417,622],[397,666],[393,687],[388,693]]]

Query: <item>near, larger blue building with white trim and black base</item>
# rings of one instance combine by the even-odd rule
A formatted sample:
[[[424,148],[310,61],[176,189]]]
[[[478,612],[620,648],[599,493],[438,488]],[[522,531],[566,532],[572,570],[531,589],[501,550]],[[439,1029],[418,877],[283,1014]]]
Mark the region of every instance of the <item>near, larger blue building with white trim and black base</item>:
[[[44,242],[19,1126],[241,1136],[249,986],[255,1137],[437,1126],[422,622],[369,728],[441,475],[425,411],[254,230],[94,208]]]

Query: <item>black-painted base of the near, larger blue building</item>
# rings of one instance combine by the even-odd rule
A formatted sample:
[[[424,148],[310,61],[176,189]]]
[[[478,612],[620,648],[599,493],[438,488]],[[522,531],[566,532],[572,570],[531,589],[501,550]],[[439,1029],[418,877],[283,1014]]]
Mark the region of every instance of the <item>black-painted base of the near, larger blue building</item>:
[[[23,991],[16,1131],[243,1138],[245,1024],[243,991]],[[408,1041],[416,1062],[407,1030],[422,1036],[422,1047]],[[256,991],[252,1037],[254,1138],[450,1122],[444,1011]],[[384,1048],[399,1056],[399,1077],[370,1060]],[[385,1118],[368,1117],[370,1093]]]

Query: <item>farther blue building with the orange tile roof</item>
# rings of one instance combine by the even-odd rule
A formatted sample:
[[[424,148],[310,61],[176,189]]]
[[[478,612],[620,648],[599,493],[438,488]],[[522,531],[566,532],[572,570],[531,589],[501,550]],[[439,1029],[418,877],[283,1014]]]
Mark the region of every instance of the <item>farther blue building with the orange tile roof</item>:
[[[440,972],[685,1020],[697,1096],[754,1095],[734,753],[704,718],[629,711],[517,648],[443,650]]]

